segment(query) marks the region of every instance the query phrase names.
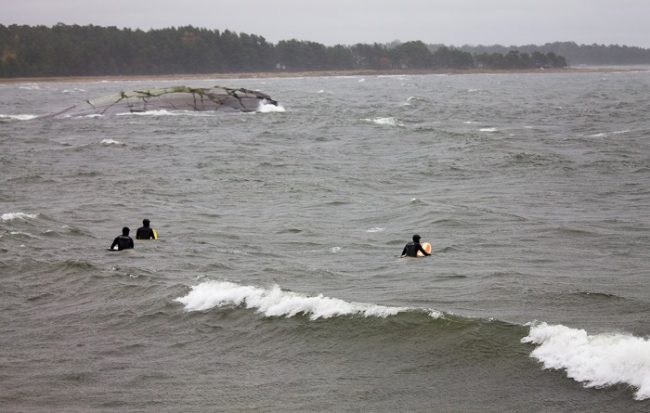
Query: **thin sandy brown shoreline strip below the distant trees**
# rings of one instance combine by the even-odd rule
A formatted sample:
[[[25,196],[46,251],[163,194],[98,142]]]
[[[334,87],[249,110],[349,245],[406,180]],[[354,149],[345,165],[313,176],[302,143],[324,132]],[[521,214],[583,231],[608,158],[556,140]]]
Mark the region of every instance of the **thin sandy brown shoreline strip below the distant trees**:
[[[241,72],[200,73],[164,75],[107,75],[107,76],[48,76],[0,78],[0,84],[34,82],[101,82],[131,80],[208,80],[208,79],[266,79],[293,77],[336,77],[336,76],[410,76],[410,75],[467,75],[467,74],[544,74],[544,73],[613,73],[648,71],[650,68],[630,66],[611,67],[568,67],[552,69],[446,69],[446,70],[317,70],[306,72]]]

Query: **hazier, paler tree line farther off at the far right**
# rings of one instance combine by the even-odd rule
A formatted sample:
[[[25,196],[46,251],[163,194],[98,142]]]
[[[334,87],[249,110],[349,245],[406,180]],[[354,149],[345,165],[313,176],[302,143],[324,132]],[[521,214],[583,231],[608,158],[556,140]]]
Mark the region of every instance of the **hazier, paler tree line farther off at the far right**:
[[[563,56],[571,66],[575,65],[649,65],[650,49],[619,45],[578,45],[575,42],[554,42],[542,46],[462,46],[460,50],[473,55],[519,53],[555,53]]]

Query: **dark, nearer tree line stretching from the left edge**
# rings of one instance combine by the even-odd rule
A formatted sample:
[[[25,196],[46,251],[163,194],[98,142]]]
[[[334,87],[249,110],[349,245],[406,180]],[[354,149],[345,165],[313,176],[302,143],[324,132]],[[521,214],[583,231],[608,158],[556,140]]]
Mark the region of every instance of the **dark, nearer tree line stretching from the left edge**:
[[[324,46],[208,30],[57,24],[0,25],[0,77],[92,76],[354,69],[528,69],[565,67],[555,52],[472,54],[421,41]]]

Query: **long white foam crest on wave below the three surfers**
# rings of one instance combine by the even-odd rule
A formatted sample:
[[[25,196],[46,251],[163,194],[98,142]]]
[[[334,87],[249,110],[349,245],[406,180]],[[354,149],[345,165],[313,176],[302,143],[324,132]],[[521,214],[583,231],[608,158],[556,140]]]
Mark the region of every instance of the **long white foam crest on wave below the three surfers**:
[[[215,307],[245,306],[267,317],[309,316],[311,320],[337,316],[362,316],[386,318],[408,311],[406,307],[387,307],[376,304],[354,303],[322,294],[308,296],[283,291],[277,285],[264,289],[227,281],[207,281],[192,286],[184,297],[176,299],[187,311],[205,311]],[[440,313],[428,310],[432,318]]]

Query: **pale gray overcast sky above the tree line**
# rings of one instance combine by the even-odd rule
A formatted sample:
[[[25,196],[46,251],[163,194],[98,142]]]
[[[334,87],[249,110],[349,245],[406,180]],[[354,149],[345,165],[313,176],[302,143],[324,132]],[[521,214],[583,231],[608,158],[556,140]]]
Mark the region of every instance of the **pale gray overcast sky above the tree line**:
[[[192,25],[267,41],[650,48],[650,0],[0,0],[0,24]]]

